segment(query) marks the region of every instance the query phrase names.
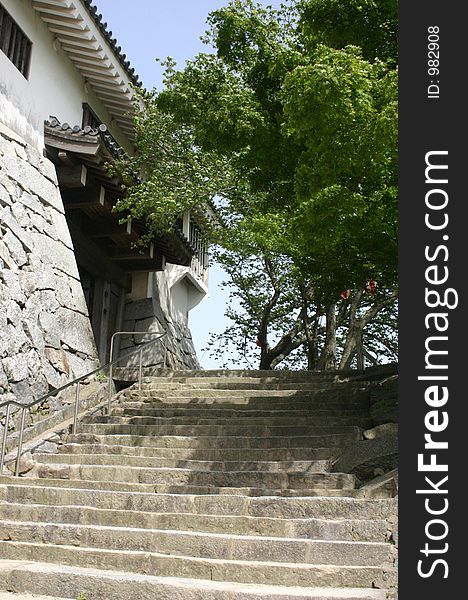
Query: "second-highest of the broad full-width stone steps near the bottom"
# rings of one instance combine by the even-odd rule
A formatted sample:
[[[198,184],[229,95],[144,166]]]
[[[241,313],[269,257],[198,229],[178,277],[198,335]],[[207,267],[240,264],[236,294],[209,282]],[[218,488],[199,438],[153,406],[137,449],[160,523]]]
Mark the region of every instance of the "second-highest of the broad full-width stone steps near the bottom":
[[[1,502],[0,519],[33,523],[54,522],[350,542],[385,542],[388,537],[388,524],[385,519],[281,519],[236,515],[152,513],[85,506],[4,504]]]

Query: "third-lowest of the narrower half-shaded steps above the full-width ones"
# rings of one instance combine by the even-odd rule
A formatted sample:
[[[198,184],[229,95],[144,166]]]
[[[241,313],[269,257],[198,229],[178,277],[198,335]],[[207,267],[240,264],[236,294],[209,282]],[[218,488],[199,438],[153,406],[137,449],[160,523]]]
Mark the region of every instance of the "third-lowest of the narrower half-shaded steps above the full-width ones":
[[[264,471],[264,472],[326,472],[330,470],[330,460],[313,461],[203,461],[131,456],[125,454],[40,454],[34,459],[48,464],[80,465],[122,465],[127,467],[180,468],[193,471]]]

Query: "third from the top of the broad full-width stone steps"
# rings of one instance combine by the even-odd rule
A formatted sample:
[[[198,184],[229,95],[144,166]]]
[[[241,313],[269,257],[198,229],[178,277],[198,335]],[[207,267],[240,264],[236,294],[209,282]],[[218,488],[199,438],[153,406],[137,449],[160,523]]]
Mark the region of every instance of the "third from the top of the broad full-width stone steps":
[[[382,566],[392,546],[378,542],[305,540],[271,536],[159,530],[102,525],[0,520],[0,540],[152,552],[221,560],[343,566]]]

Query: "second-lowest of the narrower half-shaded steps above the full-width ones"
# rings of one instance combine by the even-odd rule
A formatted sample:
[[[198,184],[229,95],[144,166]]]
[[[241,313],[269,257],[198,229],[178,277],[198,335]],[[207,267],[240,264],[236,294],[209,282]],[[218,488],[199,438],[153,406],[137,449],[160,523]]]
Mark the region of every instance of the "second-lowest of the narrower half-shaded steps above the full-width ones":
[[[168,486],[252,487],[269,489],[353,489],[356,478],[345,473],[265,471],[192,471],[181,468],[149,468],[113,465],[39,464],[39,477],[143,483]]]

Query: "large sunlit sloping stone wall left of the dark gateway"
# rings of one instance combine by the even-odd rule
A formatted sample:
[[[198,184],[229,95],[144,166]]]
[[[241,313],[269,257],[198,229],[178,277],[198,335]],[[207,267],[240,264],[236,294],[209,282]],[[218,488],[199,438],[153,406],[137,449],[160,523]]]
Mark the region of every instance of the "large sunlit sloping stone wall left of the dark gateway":
[[[55,168],[0,124],[0,403],[96,365]]]

